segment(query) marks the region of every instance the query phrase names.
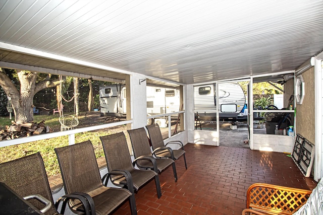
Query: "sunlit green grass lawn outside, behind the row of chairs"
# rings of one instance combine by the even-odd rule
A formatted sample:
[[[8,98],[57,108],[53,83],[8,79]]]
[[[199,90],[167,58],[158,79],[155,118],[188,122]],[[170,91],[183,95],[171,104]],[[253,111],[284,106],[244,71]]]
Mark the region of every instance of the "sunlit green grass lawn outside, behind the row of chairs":
[[[79,117],[79,120],[82,120],[82,117],[84,116]],[[34,116],[34,122],[38,123],[42,120],[45,120],[45,124],[51,128],[60,127],[59,117],[57,115]],[[4,129],[6,125],[11,124],[11,119],[9,119],[9,117],[0,117],[0,129]],[[126,125],[123,126],[126,129]],[[75,141],[82,142],[90,139],[94,147],[96,158],[100,158],[104,156],[104,152],[99,137],[103,135],[109,135],[112,133],[115,133],[115,131],[109,128],[101,129],[98,131],[77,133],[75,134]],[[36,152],[40,152],[44,160],[47,175],[55,175],[60,172],[60,169],[54,149],[68,146],[68,142],[68,136],[66,135],[34,142],[28,142],[26,144],[2,147],[0,148],[0,163],[18,159],[26,155],[34,154]]]

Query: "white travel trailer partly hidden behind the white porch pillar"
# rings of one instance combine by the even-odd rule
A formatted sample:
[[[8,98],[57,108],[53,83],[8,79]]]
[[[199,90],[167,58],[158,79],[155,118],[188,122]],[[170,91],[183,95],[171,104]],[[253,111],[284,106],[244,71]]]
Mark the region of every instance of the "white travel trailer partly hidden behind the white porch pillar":
[[[100,111],[101,116],[126,117],[126,86],[113,84],[101,86]],[[179,111],[180,93],[178,89],[166,89],[147,86],[147,116],[173,113]],[[151,124],[153,119],[147,120]],[[158,119],[158,124],[166,127],[167,120]]]

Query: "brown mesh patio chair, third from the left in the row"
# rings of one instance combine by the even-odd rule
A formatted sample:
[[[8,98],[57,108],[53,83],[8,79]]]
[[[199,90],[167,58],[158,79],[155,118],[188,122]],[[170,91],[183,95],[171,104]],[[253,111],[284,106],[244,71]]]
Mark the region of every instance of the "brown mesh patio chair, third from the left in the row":
[[[158,174],[153,170],[138,170],[133,167],[127,145],[127,139],[123,132],[100,136],[100,139],[103,145],[103,151],[109,172],[114,170],[128,171],[132,176],[133,186],[136,190],[154,178],[157,196],[160,198],[161,190]],[[154,159],[150,157],[149,159],[155,163]],[[121,185],[122,187],[127,186],[124,176],[114,175],[111,178],[114,184]],[[105,185],[106,184],[107,180],[105,180]]]

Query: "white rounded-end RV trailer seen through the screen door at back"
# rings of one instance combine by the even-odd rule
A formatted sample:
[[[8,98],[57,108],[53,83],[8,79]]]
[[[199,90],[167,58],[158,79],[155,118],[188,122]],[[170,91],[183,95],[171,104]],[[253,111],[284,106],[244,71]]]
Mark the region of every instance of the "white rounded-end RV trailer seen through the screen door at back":
[[[216,84],[194,87],[194,112],[199,114],[200,119],[217,120],[216,101]],[[235,122],[245,120],[238,117],[244,110],[245,104],[245,94],[238,83],[219,84],[220,121]]]

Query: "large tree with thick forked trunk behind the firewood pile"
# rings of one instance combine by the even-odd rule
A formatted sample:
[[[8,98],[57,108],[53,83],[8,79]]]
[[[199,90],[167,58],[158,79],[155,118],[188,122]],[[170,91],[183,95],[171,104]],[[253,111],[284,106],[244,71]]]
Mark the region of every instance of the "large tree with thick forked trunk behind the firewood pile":
[[[33,121],[33,98],[42,89],[56,87],[59,79],[50,79],[48,74],[42,81],[37,82],[38,73],[35,71],[17,70],[20,88],[6,74],[6,69],[0,68],[0,86],[7,96],[11,97],[15,113],[15,121]]]

